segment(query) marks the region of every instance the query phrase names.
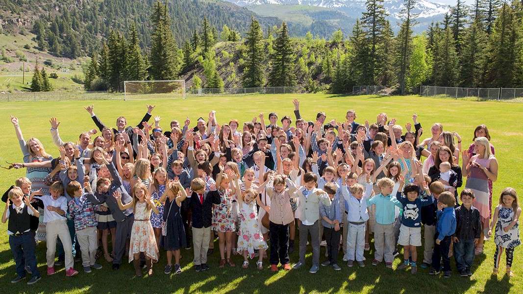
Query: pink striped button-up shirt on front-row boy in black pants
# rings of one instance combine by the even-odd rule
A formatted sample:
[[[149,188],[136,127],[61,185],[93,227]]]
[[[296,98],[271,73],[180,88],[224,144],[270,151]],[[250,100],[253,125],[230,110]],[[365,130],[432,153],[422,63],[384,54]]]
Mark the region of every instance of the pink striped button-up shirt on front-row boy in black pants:
[[[292,213],[290,198],[296,198],[294,192],[296,191],[295,186],[292,184],[289,178],[285,179],[287,187],[280,193],[273,187],[272,181],[269,181],[265,191],[270,198],[270,213],[269,221],[276,224],[289,224],[294,221],[294,214]]]

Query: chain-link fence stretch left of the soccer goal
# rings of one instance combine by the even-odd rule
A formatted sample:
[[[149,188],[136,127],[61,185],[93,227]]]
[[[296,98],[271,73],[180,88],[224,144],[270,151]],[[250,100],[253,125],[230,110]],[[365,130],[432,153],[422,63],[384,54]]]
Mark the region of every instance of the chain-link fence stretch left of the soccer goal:
[[[0,92],[0,102],[16,101],[71,101],[123,99],[123,95],[99,92]]]

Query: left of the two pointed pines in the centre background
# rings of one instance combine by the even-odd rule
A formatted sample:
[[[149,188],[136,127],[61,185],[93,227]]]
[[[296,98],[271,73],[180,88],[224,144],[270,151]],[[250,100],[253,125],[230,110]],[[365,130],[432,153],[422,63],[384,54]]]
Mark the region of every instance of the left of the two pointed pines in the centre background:
[[[263,33],[258,22],[251,16],[251,26],[245,37],[247,47],[246,65],[242,76],[242,85],[246,88],[261,87],[265,84],[264,70],[261,61],[264,59],[263,46],[261,39]]]

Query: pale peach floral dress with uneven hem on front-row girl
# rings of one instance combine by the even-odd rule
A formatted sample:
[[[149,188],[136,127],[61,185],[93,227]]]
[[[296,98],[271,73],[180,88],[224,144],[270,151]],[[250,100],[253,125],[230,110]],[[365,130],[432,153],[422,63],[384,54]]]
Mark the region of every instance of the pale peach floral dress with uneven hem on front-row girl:
[[[150,217],[151,210],[147,209],[147,203],[136,203],[129,245],[129,262],[134,259],[134,254],[140,252],[143,252],[149,258],[158,260],[158,246],[154,238],[153,226],[149,220]]]

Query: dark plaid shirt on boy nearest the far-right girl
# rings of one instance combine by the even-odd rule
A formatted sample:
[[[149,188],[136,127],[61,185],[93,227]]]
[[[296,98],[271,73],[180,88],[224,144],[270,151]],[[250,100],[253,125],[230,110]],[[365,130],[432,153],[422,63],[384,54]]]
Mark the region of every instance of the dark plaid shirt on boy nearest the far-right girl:
[[[470,210],[463,205],[454,210],[456,212],[456,232],[454,237],[459,240],[479,239],[481,234],[480,211],[471,206]]]

